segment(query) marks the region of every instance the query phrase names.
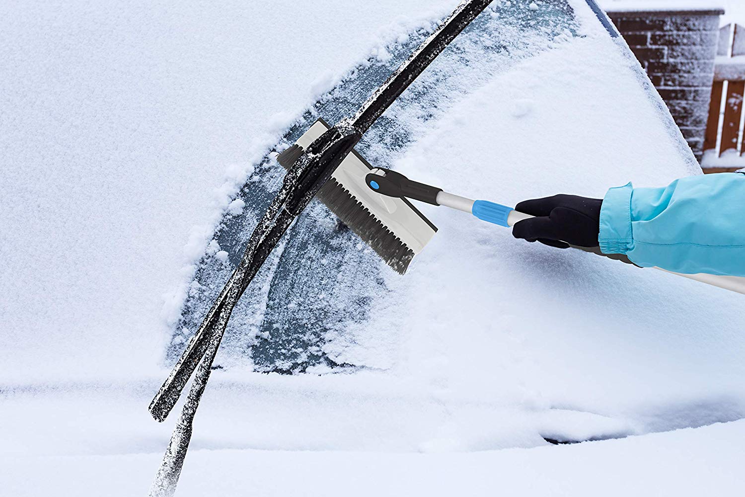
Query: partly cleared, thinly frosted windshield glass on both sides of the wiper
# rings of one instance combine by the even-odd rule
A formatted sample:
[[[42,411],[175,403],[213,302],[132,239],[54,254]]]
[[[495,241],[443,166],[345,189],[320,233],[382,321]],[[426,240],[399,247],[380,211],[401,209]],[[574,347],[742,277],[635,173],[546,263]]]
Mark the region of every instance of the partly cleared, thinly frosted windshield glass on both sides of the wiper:
[[[375,48],[370,59],[294,124],[278,150],[294,142],[319,116],[335,123],[355,113],[436,25],[432,22]],[[494,75],[509,74],[522,60],[559,48],[574,37],[577,22],[565,1],[546,2],[541,8],[532,2],[495,4],[378,120],[358,151],[373,165],[392,166],[454,103]],[[186,312],[175,326],[168,351],[171,360],[180,354],[237,264],[256,216],[283,173],[273,159],[264,159],[239,194],[237,201],[246,207],[239,215],[226,212],[188,288]],[[389,273],[352,232],[315,204],[259,275],[262,283],[252,285],[242,299],[219,361],[223,367],[248,364],[279,373],[373,366],[344,361],[335,351],[349,340],[352,329],[367,326],[373,300],[390,295],[389,287],[395,283],[388,281]]]

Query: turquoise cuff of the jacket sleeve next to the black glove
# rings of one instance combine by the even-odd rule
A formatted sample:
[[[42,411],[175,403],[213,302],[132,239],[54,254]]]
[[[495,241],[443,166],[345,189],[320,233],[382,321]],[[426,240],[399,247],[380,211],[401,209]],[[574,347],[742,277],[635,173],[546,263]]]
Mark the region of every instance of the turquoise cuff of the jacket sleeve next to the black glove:
[[[600,207],[600,242],[602,253],[627,253],[634,248],[631,232],[631,183],[608,190]]]

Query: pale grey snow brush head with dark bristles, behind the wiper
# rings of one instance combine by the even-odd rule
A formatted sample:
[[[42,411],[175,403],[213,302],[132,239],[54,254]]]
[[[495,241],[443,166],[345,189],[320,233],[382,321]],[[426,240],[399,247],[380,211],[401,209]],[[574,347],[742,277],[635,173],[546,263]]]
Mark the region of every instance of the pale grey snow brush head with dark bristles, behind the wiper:
[[[285,169],[291,168],[308,145],[328,129],[329,124],[319,119],[294,145],[279,153],[277,161]],[[365,177],[372,169],[352,150],[316,197],[387,265],[403,274],[437,228],[405,198],[385,197],[370,190]]]

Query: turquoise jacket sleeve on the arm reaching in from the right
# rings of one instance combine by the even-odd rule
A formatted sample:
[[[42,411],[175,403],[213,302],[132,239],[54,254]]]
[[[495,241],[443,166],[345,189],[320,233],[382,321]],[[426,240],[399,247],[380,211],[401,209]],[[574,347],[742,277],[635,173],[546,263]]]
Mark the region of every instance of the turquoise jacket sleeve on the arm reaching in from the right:
[[[603,253],[624,253],[643,267],[745,276],[745,174],[609,189],[598,240]]]

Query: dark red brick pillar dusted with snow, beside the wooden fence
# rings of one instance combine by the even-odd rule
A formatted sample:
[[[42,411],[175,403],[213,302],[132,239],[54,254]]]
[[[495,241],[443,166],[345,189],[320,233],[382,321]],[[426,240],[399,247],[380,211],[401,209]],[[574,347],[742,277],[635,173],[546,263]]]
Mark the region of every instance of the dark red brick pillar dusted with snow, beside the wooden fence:
[[[699,160],[723,13],[718,9],[608,13]]]

